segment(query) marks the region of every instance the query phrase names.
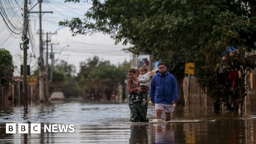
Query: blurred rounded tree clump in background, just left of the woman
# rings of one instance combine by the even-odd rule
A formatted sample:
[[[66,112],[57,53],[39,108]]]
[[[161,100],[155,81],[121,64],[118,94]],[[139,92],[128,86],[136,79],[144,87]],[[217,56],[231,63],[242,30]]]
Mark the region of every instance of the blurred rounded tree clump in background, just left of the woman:
[[[87,59],[80,63],[79,83],[82,90],[97,100],[110,100],[112,94],[118,93],[119,85],[124,88],[127,66],[129,63],[124,62],[117,68],[109,61],[99,60],[97,56]]]

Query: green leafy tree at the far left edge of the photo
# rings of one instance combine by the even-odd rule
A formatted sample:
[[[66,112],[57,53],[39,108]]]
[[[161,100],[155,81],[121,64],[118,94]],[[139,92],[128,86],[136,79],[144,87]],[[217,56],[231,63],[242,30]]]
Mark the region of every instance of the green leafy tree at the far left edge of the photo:
[[[8,88],[13,77],[13,58],[8,50],[0,49],[0,86]]]

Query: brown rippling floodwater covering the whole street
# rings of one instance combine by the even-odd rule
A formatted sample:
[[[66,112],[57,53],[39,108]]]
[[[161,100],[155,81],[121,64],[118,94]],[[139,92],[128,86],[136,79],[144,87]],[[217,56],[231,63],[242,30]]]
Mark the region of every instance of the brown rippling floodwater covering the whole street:
[[[0,112],[0,143],[256,143],[255,109],[242,115],[215,113],[198,105],[174,109],[171,121],[158,121],[154,105],[149,105],[150,122],[131,123],[124,103],[16,106]],[[18,133],[18,123],[27,121],[41,123],[41,133]],[[6,123],[16,123],[17,133],[6,134]],[[73,124],[74,132],[44,132],[44,125],[53,124]]]

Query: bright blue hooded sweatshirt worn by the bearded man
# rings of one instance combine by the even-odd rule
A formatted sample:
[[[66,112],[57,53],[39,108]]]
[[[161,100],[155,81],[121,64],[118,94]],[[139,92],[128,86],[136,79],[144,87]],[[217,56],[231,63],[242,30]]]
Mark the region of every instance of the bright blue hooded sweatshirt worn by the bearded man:
[[[178,99],[178,87],[175,77],[166,71],[161,75],[156,71],[156,75],[151,80],[149,96],[151,102],[156,104],[172,104],[172,101]]]

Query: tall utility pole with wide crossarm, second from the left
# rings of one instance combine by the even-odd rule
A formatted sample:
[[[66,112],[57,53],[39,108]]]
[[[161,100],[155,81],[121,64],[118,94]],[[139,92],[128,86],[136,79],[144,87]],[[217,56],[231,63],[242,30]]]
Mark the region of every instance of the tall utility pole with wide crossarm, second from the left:
[[[44,58],[43,53],[44,49],[42,46],[42,13],[53,13],[52,11],[42,12],[41,3],[42,0],[38,0],[39,3],[39,12],[29,12],[29,13],[39,13],[39,101],[44,102]]]

